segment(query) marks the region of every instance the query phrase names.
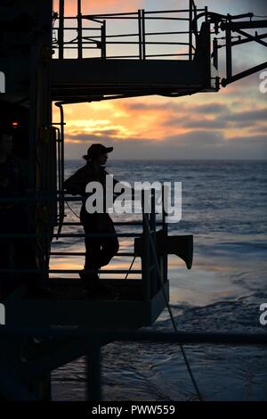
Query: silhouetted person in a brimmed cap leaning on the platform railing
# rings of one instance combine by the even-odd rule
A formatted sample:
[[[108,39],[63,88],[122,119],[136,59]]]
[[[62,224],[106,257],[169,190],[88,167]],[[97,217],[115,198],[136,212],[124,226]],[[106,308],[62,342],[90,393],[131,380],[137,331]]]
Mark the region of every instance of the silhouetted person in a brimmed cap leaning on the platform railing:
[[[64,188],[73,195],[88,196],[85,187],[89,182],[100,182],[103,186],[104,196],[106,190],[106,176],[108,172],[103,167],[108,160],[108,152],[113,147],[105,147],[102,144],[92,144],[84,156],[86,164],[64,182]],[[117,183],[114,180],[114,185]],[[112,195],[113,196],[113,195]],[[85,201],[80,212],[80,220],[85,229],[85,234],[116,234],[112,219],[108,213],[88,213],[85,209]],[[80,276],[85,280],[86,286],[95,291],[105,291],[99,282],[97,270],[108,265],[118,251],[117,236],[113,237],[85,237],[85,270]],[[85,272],[85,271],[91,272]]]

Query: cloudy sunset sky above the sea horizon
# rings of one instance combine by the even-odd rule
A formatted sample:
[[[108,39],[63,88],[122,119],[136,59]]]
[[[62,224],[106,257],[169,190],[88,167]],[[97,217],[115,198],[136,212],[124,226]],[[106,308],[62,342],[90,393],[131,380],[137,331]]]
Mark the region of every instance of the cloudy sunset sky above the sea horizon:
[[[76,0],[66,2],[69,14],[77,13],[76,3]],[[264,0],[196,0],[196,4],[224,14],[267,15]],[[83,13],[187,6],[185,0],[83,0]],[[166,31],[168,27],[161,26],[160,30]],[[119,29],[115,27],[114,33],[117,32]],[[236,47],[234,72],[266,61],[267,48],[254,44]],[[220,75],[224,76],[223,53],[220,62]],[[267,93],[260,92],[261,81],[260,73],[256,73],[222,88],[219,93],[65,105],[65,157],[78,159],[90,144],[100,142],[114,146],[114,159],[266,159]],[[54,121],[59,121],[57,111]]]

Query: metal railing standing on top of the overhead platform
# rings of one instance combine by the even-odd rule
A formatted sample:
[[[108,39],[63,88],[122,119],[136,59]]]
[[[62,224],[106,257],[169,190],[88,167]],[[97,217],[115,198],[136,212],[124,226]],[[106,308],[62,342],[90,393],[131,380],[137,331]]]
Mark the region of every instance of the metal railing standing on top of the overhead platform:
[[[86,54],[86,58],[146,60],[183,57],[191,61],[196,47],[192,22],[199,12],[204,11],[206,9],[198,9],[194,1],[189,0],[189,8],[182,10],[147,12],[140,9],[137,12],[83,14],[81,1],[77,0],[77,15],[66,16],[64,0],[60,0],[59,12],[54,12],[53,15],[53,48],[57,51],[56,57],[61,60],[67,58],[67,51],[75,51],[77,59],[83,59],[85,52],[95,50],[96,54]],[[113,33],[112,27],[109,28],[110,21],[116,23],[116,33]],[[133,27],[132,32],[118,32],[120,23],[125,21]],[[174,26],[174,29],[158,30],[166,22]],[[130,46],[130,53],[112,53],[115,47],[125,45]],[[153,53],[155,46],[171,48],[171,51]],[[177,51],[180,47],[182,51]]]

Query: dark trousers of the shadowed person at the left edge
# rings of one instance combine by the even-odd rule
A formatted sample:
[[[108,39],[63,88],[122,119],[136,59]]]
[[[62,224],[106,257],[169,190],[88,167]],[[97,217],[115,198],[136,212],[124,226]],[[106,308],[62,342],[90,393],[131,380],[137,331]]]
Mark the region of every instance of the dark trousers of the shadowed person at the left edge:
[[[25,209],[0,209],[1,234],[28,234],[28,216]],[[32,239],[0,237],[0,269],[36,269]],[[36,274],[0,273],[0,300],[24,283],[28,294],[38,289]]]

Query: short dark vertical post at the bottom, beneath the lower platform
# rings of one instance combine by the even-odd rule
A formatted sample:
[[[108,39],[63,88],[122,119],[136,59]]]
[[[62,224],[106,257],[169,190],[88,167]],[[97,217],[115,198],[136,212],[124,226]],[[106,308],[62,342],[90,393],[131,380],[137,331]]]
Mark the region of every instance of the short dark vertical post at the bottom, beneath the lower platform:
[[[101,346],[99,341],[90,342],[86,356],[87,401],[101,400]]]

